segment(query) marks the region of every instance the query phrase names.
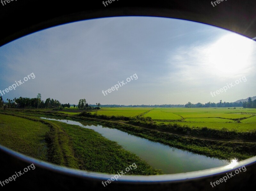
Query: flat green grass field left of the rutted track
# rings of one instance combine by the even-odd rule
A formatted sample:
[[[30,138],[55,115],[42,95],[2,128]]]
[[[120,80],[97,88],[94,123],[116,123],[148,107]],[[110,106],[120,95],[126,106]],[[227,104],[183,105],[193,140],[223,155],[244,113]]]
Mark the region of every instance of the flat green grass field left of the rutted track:
[[[47,161],[45,133],[49,129],[40,122],[0,114],[0,144],[33,158]]]

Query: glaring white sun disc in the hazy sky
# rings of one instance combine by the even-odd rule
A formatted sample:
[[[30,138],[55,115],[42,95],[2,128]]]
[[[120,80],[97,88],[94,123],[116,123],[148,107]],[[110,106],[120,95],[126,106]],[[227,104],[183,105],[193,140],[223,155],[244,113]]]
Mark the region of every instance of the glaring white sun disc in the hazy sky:
[[[235,33],[221,37],[208,50],[210,68],[222,74],[247,72],[253,43],[253,40]]]

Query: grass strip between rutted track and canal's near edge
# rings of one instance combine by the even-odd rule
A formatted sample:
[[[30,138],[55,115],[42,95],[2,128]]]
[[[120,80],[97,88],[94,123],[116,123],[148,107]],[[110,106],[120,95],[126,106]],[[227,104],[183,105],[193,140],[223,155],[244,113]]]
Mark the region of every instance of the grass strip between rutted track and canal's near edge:
[[[124,150],[116,142],[108,140],[92,129],[58,121],[53,121],[53,123],[62,126],[72,140],[75,157],[82,170],[115,174],[116,171],[121,171],[135,163],[137,168],[129,171],[128,174],[159,174],[138,156]]]

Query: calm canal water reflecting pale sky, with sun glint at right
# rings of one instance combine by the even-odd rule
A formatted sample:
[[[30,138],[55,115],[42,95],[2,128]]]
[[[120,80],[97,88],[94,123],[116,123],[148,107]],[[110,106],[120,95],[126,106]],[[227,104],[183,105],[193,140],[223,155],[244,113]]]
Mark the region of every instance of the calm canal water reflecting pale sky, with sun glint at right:
[[[124,149],[131,151],[140,158],[146,160],[151,166],[154,166],[157,169],[162,169],[166,174],[198,171],[229,164],[229,162],[225,160],[182,151],[162,143],[156,143],[145,138],[129,135],[128,133],[118,129],[102,127],[101,125],[94,125],[92,123],[83,122],[82,124],[80,122],[70,120],[49,120],[61,121],[93,129],[109,140],[116,141],[118,144],[122,145]],[[235,162],[232,161],[229,165],[234,164]]]

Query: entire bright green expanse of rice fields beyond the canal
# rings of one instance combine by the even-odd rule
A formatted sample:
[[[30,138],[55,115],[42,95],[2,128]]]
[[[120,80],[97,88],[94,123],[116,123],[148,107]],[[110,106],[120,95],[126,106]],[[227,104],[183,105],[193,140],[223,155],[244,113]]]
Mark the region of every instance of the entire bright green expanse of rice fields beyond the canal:
[[[95,113],[95,112],[92,112]],[[189,127],[208,127],[214,129],[227,128],[237,131],[256,129],[256,109],[234,108],[153,108],[153,107],[119,107],[101,108],[98,115],[124,115],[132,117],[141,115],[151,117],[157,123],[177,122]],[[246,119],[243,119],[246,118]]]

